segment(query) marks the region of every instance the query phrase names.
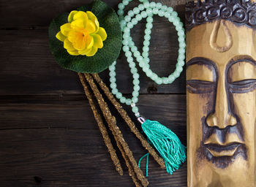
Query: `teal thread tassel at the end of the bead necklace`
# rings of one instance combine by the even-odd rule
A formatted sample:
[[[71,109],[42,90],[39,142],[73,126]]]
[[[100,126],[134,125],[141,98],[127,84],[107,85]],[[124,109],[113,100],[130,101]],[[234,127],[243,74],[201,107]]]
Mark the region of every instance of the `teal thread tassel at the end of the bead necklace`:
[[[181,141],[173,131],[158,121],[146,120],[141,127],[148,140],[164,159],[166,171],[171,175],[186,161],[186,147],[181,144]]]

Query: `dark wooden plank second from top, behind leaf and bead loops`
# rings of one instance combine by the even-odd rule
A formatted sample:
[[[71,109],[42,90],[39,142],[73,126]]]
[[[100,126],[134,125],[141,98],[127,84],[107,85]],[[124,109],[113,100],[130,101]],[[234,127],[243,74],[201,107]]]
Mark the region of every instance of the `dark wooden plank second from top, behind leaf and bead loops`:
[[[132,30],[135,44],[143,47],[145,24]],[[0,30],[0,95],[83,93],[78,75],[62,69],[48,46],[47,28],[35,30]],[[151,69],[168,76],[176,68],[178,41],[170,23],[155,23],[150,47]],[[160,65],[159,65],[160,64]],[[125,67],[125,68],[124,68]],[[157,85],[140,69],[140,93],[185,93],[184,73],[171,85]],[[121,53],[117,64],[117,84],[122,93],[132,92],[132,76]],[[108,84],[108,70],[101,73]]]

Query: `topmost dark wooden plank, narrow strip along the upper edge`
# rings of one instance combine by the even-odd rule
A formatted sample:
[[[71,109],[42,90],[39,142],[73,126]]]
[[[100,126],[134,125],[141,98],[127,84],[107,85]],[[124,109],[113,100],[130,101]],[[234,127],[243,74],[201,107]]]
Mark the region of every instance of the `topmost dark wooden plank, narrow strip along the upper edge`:
[[[0,16],[1,28],[34,28],[37,26],[48,26],[53,18],[56,18],[61,12],[70,12],[72,9],[88,4],[92,0],[56,0],[56,1],[26,1],[26,0],[1,0]],[[114,9],[117,9],[120,0],[103,0]],[[177,12],[184,12],[186,0],[169,1],[157,0],[167,6],[176,9]],[[129,7],[137,6],[139,1],[132,1]],[[8,15],[8,16],[7,16]],[[19,16],[17,16],[19,15]]]

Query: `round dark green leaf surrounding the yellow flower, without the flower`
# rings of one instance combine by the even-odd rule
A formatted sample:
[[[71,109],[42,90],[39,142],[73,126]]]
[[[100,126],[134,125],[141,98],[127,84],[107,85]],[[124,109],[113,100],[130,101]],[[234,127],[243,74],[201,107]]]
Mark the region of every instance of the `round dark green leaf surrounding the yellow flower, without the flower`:
[[[64,48],[63,42],[56,38],[56,34],[60,31],[60,26],[67,23],[69,13],[64,12],[59,17],[53,19],[49,26],[51,53],[53,53],[56,62],[65,69],[81,73],[102,72],[113,64],[113,61],[116,61],[121,50],[122,37],[118,16],[111,7],[99,0],[79,7],[78,10],[93,12],[99,21],[99,26],[105,28],[108,37],[103,42],[103,47],[94,56],[69,55]]]

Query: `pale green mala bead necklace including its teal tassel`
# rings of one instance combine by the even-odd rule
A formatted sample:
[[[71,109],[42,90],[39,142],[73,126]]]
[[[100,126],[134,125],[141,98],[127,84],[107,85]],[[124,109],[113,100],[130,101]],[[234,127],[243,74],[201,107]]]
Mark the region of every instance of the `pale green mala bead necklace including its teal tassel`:
[[[118,16],[121,24],[121,30],[123,31],[123,51],[127,57],[127,62],[129,63],[130,72],[133,77],[133,91],[132,99],[125,98],[121,92],[118,91],[116,85],[116,61],[109,67],[110,70],[110,88],[112,88],[112,93],[116,95],[116,98],[120,100],[121,103],[130,105],[132,107],[132,112],[140,121],[142,129],[149,142],[154,145],[157,149],[162,159],[165,161],[165,167],[168,173],[172,174],[176,169],[178,169],[181,164],[186,161],[186,147],[181,144],[176,134],[170,129],[163,126],[158,121],[146,120],[140,115],[138,107],[138,96],[140,91],[140,75],[138,74],[138,69],[134,61],[136,61],[146,76],[151,80],[154,80],[158,85],[170,84],[176,80],[181,74],[184,66],[185,59],[185,34],[183,23],[181,23],[180,18],[178,18],[177,12],[173,11],[172,7],[167,7],[161,3],[155,3],[154,1],[148,2],[147,0],[140,0],[143,4],[138,5],[132,10],[129,10],[128,14],[124,16],[124,7],[129,4],[132,0],[123,0],[122,3],[118,4]],[[168,77],[159,77],[156,73],[152,72],[150,69],[150,59],[148,58],[148,51],[151,39],[151,28],[153,28],[153,16],[159,15],[159,17],[165,17],[174,26],[176,26],[176,31],[178,32],[178,62],[176,64],[176,70]],[[146,18],[146,29],[143,42],[143,53],[140,54],[138,47],[135,46],[135,42],[132,41],[130,36],[130,30],[135,26],[140,20]]]

